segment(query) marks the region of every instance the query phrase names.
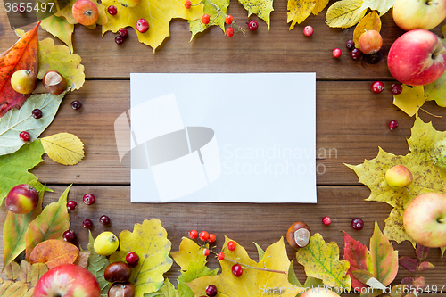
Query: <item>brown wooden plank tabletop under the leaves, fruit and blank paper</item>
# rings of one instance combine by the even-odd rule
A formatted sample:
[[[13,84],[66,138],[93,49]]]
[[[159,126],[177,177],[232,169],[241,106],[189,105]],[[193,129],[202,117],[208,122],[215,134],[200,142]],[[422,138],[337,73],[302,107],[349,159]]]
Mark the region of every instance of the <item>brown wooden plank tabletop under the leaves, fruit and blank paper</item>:
[[[92,232],[98,235],[103,230],[119,234],[121,230],[133,230],[135,223],[144,219],[161,219],[172,242],[172,251],[178,251],[182,236],[190,229],[208,230],[217,235],[222,243],[223,235],[234,238],[247,248],[255,259],[252,242],[266,248],[285,236],[288,227],[297,220],[307,222],[314,233],[324,236],[326,242],[335,241],[343,253],[343,235],[348,231],[355,239],[368,245],[373,232],[374,221],[381,229],[391,207],[381,202],[365,202],[370,193],[358,182],[355,173],[343,163],[359,164],[364,159],[373,159],[378,146],[386,152],[409,153],[406,139],[414,118],[392,105],[390,87],[394,82],[387,69],[386,58],[376,64],[353,61],[345,48],[351,39],[353,29],[330,29],[325,24],[325,12],[310,16],[295,29],[289,30],[286,23],[286,1],[276,0],[275,11],[271,13],[271,29],[260,21],[256,32],[247,32],[247,37],[235,34],[228,38],[219,28],[208,29],[189,42],[188,23],[174,20],[170,34],[157,49],[137,41],[136,33],[129,30],[128,40],[116,45],[115,35],[108,32],[101,37],[101,29],[86,29],[77,26],[73,37],[75,54],[82,57],[85,65],[84,87],[65,97],[54,122],[42,136],[60,132],[77,135],[85,144],[86,157],[78,165],[62,166],[45,156],[45,162],[32,172],[54,193],[45,194],[44,204],[54,202],[66,186],[73,184],[69,199],[81,202],[82,195],[95,194],[97,201],[92,207],[79,208],[71,212],[71,226],[78,235],[78,242],[87,248],[87,230],[82,228],[83,219],[97,221],[100,215],[111,218],[111,226],[96,223]],[[240,4],[231,1],[229,13],[236,21],[244,23],[247,14]],[[253,17],[252,19],[256,19]],[[383,50],[386,55],[392,42],[403,31],[392,21],[392,13],[382,18],[384,38]],[[315,33],[305,37],[302,29],[311,25]],[[31,29],[30,25],[24,29]],[[434,32],[441,35],[441,26]],[[39,29],[39,39],[50,37]],[[4,52],[15,41],[15,36],[6,21],[3,4],[0,4],[0,52]],[[56,43],[59,41],[56,40]],[[343,55],[332,56],[332,50],[339,47]],[[235,204],[235,203],[172,203],[132,204],[130,203],[130,170],[120,165],[120,159],[113,133],[114,120],[130,105],[129,74],[131,72],[316,72],[317,75],[317,148],[332,149],[332,155],[318,158],[317,164],[324,164],[325,174],[318,175],[317,204]],[[370,91],[374,80],[383,80],[385,90],[376,95]],[[199,82],[190,82],[199,87]],[[195,86],[196,84],[196,86]],[[246,81],[246,87],[252,87]],[[83,103],[80,111],[73,111],[70,102]],[[203,100],[206,100],[203,98]],[[446,109],[435,103],[425,103],[424,109],[436,115],[446,116]],[[423,111],[424,121],[433,121],[434,128],[446,130],[446,121],[434,118]],[[398,120],[400,126],[391,131],[390,120]],[[81,210],[81,211],[80,211]],[[0,221],[6,215],[0,209]],[[326,227],[321,223],[329,216],[333,223]],[[364,219],[361,231],[351,229],[351,219]],[[415,257],[409,242],[393,243],[399,255]],[[290,259],[294,251],[287,245]],[[3,257],[3,247],[0,249]],[[440,249],[433,249],[428,260],[436,268],[425,272],[426,284],[442,285],[446,265],[442,263]],[[218,267],[211,260],[211,267]],[[303,269],[295,264],[298,278],[304,281]],[[178,276],[174,264],[169,277]],[[409,272],[400,268],[395,283],[400,283]]]

